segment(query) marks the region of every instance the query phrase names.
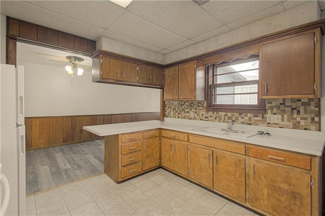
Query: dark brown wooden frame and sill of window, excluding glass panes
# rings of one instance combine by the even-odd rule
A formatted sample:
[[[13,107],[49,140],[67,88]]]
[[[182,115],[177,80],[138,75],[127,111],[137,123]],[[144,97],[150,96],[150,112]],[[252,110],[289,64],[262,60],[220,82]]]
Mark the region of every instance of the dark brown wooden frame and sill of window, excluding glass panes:
[[[265,114],[265,99],[259,98],[259,80],[254,81],[239,81],[236,82],[237,85],[232,85],[231,83],[226,84],[215,84],[214,77],[216,73],[216,68],[218,66],[232,65],[241,62],[247,62],[249,60],[259,60],[258,54],[250,55],[246,58],[234,58],[230,61],[221,61],[216,64],[209,64],[206,67],[206,91],[207,91],[207,111],[218,111],[218,112],[236,112],[236,113],[253,113],[253,114]],[[258,68],[259,70],[259,68]],[[258,78],[260,79],[260,77]],[[257,104],[213,104],[213,88],[215,86],[238,86],[240,84],[257,84]],[[240,93],[239,93],[240,94]],[[247,93],[243,93],[247,94]],[[235,94],[231,94],[235,95]],[[238,94],[236,94],[238,95]]]

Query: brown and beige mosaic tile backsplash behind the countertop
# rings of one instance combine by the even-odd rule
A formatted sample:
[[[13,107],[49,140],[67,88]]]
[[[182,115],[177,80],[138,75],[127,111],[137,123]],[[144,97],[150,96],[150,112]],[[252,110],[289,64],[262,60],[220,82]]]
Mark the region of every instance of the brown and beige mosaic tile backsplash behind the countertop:
[[[320,131],[319,105],[317,98],[266,99],[265,114],[249,114],[208,112],[206,101],[201,100],[169,100],[165,101],[165,117]],[[267,123],[267,115],[281,115],[281,123]]]

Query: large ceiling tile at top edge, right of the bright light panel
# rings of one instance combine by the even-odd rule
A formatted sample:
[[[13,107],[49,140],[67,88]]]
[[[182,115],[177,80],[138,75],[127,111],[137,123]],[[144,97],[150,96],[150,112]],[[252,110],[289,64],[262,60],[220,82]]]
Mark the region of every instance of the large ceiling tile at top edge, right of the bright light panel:
[[[188,39],[222,25],[192,1],[136,1],[127,10]]]

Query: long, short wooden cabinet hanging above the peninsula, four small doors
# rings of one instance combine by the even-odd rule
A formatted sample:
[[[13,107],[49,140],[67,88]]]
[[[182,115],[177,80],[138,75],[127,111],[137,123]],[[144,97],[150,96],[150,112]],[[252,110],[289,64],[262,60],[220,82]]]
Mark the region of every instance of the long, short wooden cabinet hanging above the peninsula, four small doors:
[[[139,64],[135,60],[123,60],[101,52],[92,56],[92,82],[162,88],[163,78],[163,68]]]

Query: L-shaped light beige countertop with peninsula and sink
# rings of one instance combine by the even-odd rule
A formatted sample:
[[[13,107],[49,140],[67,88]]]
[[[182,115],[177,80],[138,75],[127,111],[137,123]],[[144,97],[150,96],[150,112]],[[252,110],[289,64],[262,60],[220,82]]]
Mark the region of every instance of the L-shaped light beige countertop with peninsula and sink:
[[[193,130],[202,127],[226,129],[226,123],[165,118],[164,122],[153,120],[108,125],[94,125],[84,126],[83,129],[99,136],[107,136],[120,133],[163,128],[316,156],[321,156],[324,148],[324,132],[235,124],[232,127],[233,130],[253,132],[254,134],[257,134],[257,131],[265,131],[271,133],[271,136],[257,134],[248,138],[243,138],[237,137],[236,134],[232,136]]]

